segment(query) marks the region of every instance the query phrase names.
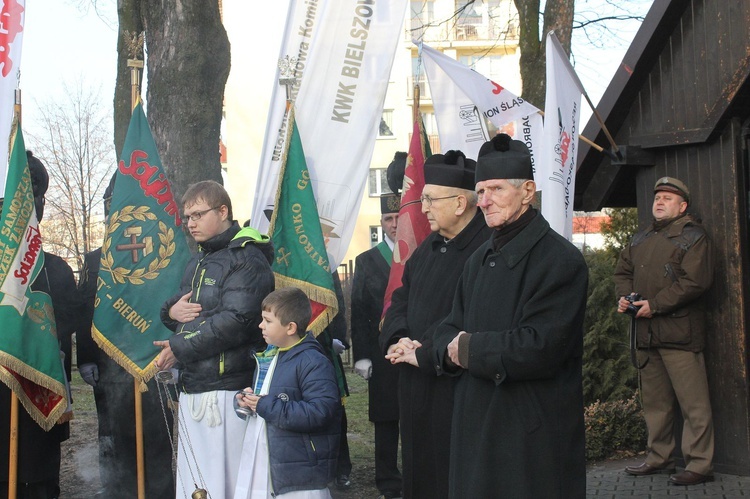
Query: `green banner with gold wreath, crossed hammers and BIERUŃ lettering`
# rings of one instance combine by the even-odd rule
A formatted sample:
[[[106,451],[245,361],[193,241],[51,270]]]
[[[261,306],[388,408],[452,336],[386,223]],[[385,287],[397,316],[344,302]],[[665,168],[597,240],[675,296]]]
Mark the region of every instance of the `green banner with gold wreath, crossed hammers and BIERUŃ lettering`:
[[[117,165],[97,283],[93,337],[133,376],[150,379],[172,331],[159,318],[190,252],[143,106],[133,110]]]

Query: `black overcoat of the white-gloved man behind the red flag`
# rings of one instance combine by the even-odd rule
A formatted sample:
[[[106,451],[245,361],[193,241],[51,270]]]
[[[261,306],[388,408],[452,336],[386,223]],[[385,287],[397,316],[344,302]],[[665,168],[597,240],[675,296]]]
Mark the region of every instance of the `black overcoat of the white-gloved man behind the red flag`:
[[[385,360],[378,345],[390,269],[390,262],[386,262],[377,247],[361,253],[354,261],[352,353],[355,362],[372,361],[372,377],[368,382],[372,422],[398,420],[398,369]]]

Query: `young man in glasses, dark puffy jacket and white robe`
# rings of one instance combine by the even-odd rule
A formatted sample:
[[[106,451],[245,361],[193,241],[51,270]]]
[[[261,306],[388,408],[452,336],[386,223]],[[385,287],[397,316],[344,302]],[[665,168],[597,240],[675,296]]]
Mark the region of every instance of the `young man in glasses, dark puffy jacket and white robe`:
[[[265,347],[258,325],[274,289],[273,247],[268,236],[240,229],[214,181],[190,186],[182,203],[198,253],[162,306],[162,322],[176,334],[154,342],[162,348],[156,365],[180,368],[176,497],[190,498],[198,483],[225,499],[234,494],[246,424],[234,415],[234,394],[252,384],[250,349]]]

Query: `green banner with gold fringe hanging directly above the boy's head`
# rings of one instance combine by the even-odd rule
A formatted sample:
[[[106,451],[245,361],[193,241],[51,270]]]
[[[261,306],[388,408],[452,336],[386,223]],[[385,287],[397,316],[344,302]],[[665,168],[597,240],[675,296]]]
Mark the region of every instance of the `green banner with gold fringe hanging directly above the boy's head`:
[[[309,329],[316,335],[338,312],[320,215],[307,170],[302,141],[292,113],[291,138],[282,159],[279,190],[271,218],[276,287],[296,286],[310,299],[313,318]]]

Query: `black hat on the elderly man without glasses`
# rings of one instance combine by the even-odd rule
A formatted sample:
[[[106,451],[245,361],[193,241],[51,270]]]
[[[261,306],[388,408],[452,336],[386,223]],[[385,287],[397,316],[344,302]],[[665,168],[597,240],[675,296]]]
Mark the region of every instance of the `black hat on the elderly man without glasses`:
[[[526,144],[500,133],[482,145],[477,156],[475,181],[493,178],[534,180],[531,154]]]

